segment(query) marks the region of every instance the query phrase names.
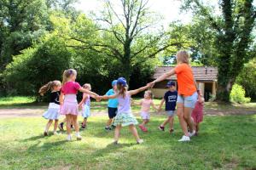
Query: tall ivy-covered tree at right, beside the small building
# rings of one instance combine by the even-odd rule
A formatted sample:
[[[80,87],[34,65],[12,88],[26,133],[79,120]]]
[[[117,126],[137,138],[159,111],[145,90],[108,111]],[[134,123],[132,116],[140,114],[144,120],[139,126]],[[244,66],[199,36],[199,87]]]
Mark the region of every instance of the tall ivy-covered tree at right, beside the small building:
[[[252,58],[248,51],[253,42],[253,26],[256,18],[253,0],[221,0],[221,15],[214,15],[212,8],[200,0],[186,0],[184,6],[215,31],[216,63],[218,65],[217,99],[230,101],[230,90],[243,65]]]

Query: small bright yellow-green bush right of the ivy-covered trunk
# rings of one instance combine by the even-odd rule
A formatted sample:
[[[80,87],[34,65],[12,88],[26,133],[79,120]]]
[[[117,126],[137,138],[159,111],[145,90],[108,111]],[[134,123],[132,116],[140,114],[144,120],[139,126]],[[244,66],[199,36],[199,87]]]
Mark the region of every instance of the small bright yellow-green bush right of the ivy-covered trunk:
[[[251,98],[245,97],[245,90],[238,84],[234,84],[230,93],[230,101],[239,104],[249,103]]]

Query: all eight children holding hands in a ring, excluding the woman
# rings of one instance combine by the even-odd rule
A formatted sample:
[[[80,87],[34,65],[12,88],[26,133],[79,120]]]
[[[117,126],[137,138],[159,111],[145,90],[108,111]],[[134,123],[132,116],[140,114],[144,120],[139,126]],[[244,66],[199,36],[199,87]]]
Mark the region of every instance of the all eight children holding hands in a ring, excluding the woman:
[[[138,124],[137,119],[131,113],[131,96],[138,94],[148,88],[150,84],[144,86],[143,88],[138,88],[136,90],[128,90],[128,85],[123,77],[119,77],[118,80],[112,82],[111,89],[103,95],[99,96],[91,92],[91,87],[89,83],[84,84],[83,87],[75,82],[77,77],[77,71],[69,69],[64,71],[62,83],[60,81],[48,82],[42,88],[39,89],[39,94],[44,95],[48,90],[50,93],[50,103],[48,111],[44,112],[44,118],[49,120],[44,129],[44,135],[47,136],[49,132],[49,127],[53,121],[55,121],[54,134],[56,134],[56,129],[58,127],[58,120],[60,115],[66,116],[65,120],[60,123],[59,127],[63,130],[63,124],[66,122],[67,127],[67,140],[71,140],[71,128],[74,127],[76,132],[76,138],[78,140],[82,139],[79,133],[78,116],[79,109],[82,110],[82,116],[84,121],[81,124],[82,128],[87,126],[87,119],[90,116],[90,97],[100,101],[102,99],[108,99],[108,122],[106,123],[106,130],[115,129],[114,132],[114,144],[119,141],[119,134],[122,127],[129,126],[131,133],[137,139],[137,144],[143,143],[143,139],[139,138],[137,133],[136,125]],[[168,82],[166,84],[168,91],[164,95],[160,102],[160,106],[156,107],[153,101],[153,94],[150,90],[145,91],[144,98],[140,101],[141,105],[141,117],[143,122],[139,124],[138,127],[143,132],[148,132],[146,124],[150,120],[150,107],[152,106],[154,110],[160,111],[162,105],[166,103],[166,120],[160,124],[159,129],[165,131],[165,126],[167,123],[170,124],[170,133],[173,132],[173,118],[175,115],[176,103],[177,103],[177,91],[175,82]],[[83,93],[83,99],[78,103],[77,94],[78,91]],[[199,130],[199,123],[202,121],[202,109],[203,100],[197,101],[195,109],[192,112],[192,117],[195,122],[196,134]]]

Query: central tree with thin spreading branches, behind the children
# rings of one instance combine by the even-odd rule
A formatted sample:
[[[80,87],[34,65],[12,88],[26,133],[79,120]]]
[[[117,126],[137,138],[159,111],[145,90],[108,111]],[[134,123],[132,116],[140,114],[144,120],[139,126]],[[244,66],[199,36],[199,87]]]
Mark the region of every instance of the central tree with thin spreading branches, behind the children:
[[[96,18],[99,26],[96,31],[101,32],[102,39],[96,42],[87,42],[77,37],[73,39],[83,43],[80,47],[90,48],[112,59],[118,59],[122,65],[121,75],[128,81],[133,71],[132,61],[140,54],[149,52],[143,56],[145,61],[176,44],[167,43],[166,32],[160,31],[163,30],[161,27],[155,28],[160,19],[148,10],[147,0],[118,0],[115,3],[104,0],[104,3],[104,11]]]

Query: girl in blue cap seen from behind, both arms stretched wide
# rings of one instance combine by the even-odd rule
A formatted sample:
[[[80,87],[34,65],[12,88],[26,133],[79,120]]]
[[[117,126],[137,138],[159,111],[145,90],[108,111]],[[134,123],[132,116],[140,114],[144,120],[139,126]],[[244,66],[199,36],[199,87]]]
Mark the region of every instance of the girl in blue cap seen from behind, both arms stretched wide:
[[[113,125],[115,127],[114,131],[114,142],[113,144],[118,144],[120,130],[122,127],[129,126],[131,133],[137,139],[137,144],[142,144],[143,139],[140,139],[137,133],[137,129],[135,125],[137,125],[136,118],[131,113],[131,95],[138,94],[143,90],[146,90],[149,86],[145,86],[143,88],[138,88],[136,90],[127,90],[127,83],[125,78],[119,77],[117,82],[118,93],[113,94],[110,96],[104,95],[100,96],[99,99],[118,99],[119,106],[118,106],[118,113],[115,116]]]

